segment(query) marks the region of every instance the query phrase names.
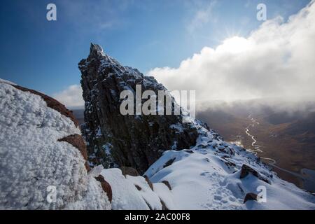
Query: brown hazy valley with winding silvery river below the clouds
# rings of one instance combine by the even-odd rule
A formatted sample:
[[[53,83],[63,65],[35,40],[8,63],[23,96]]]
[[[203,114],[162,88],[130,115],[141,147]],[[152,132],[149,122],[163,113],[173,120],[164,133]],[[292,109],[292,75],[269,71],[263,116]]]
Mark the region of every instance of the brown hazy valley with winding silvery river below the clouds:
[[[257,154],[282,179],[315,193],[314,113],[288,116],[266,108],[240,108],[207,109],[197,118],[225,141]]]

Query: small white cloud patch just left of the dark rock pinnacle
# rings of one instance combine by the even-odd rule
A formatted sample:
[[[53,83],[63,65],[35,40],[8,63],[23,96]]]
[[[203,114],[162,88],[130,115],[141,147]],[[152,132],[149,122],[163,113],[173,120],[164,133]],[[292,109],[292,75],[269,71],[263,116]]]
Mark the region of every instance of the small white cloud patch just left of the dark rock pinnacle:
[[[57,92],[52,96],[70,109],[84,106],[82,88],[80,85],[70,85],[66,88],[66,90],[62,90],[62,92]]]

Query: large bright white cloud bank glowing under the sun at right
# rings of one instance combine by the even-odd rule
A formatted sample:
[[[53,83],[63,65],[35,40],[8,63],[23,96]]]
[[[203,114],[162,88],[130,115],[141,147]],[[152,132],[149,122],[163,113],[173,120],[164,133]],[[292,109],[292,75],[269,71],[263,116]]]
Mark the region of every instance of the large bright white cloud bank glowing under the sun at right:
[[[204,47],[179,68],[155,68],[148,75],[169,90],[196,90],[199,100],[315,99],[314,49],[311,1],[287,22],[268,20],[247,38],[228,38],[215,49]]]

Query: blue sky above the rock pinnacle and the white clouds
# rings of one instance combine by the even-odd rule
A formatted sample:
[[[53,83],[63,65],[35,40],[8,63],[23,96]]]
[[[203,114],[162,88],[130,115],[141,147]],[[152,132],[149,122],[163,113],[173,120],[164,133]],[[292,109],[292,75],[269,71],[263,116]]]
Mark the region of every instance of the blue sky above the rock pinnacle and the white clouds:
[[[57,5],[55,22],[45,18],[48,3]],[[178,67],[204,46],[257,29],[258,3],[267,19],[287,19],[309,0],[2,0],[0,78],[54,94],[80,82],[90,42],[144,73]]]

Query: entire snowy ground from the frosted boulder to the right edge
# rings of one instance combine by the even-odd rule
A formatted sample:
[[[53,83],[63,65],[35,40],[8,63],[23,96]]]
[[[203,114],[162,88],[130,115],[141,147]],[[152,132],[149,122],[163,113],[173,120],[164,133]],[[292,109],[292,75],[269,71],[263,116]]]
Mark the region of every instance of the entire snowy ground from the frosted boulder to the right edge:
[[[112,209],[315,209],[314,195],[279,179],[253,153],[194,125],[197,146],[166,151],[144,176],[103,169]],[[265,202],[258,202],[263,188]]]

